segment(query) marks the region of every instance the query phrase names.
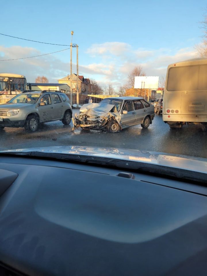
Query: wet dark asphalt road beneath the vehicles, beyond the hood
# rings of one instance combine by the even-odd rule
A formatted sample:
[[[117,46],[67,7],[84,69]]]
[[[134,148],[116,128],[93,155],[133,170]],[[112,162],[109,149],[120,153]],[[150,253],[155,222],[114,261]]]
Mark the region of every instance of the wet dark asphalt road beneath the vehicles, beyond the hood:
[[[0,150],[81,145],[151,150],[207,158],[207,131],[203,131],[198,125],[170,129],[162,121],[162,115],[156,114],[148,129],[142,129],[139,125],[120,133],[79,129],[73,132],[72,127],[72,122],[69,126],[64,126],[57,121],[41,125],[35,133],[26,133],[24,128],[5,128],[0,132]]]

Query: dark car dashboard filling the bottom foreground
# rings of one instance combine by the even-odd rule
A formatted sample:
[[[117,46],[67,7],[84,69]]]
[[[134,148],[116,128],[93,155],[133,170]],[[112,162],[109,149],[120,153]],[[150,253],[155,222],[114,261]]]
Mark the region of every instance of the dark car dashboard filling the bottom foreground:
[[[207,188],[0,157],[0,275],[206,275]]]

